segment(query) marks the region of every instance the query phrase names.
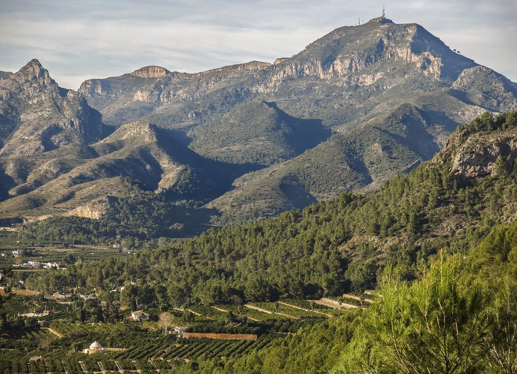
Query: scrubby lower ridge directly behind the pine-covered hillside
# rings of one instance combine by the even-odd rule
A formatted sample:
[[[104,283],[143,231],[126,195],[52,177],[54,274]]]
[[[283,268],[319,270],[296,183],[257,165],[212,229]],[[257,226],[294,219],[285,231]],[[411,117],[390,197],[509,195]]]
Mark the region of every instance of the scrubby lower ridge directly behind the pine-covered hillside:
[[[373,190],[439,151],[450,126],[457,123],[438,126],[436,116],[429,108],[402,104],[298,157],[239,177],[234,190],[207,206],[223,212],[219,222],[242,222],[303,208],[345,191]]]

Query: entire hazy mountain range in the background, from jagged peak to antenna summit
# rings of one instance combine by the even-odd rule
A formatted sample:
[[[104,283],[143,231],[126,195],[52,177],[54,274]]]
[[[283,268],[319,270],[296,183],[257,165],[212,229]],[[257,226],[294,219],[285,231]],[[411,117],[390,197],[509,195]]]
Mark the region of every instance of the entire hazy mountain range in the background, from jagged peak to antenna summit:
[[[37,60],[0,73],[0,218],[99,218],[124,178],[223,225],[429,160],[459,125],[517,109],[517,85],[417,24],[340,27],[273,64],[147,66],[59,87]]]

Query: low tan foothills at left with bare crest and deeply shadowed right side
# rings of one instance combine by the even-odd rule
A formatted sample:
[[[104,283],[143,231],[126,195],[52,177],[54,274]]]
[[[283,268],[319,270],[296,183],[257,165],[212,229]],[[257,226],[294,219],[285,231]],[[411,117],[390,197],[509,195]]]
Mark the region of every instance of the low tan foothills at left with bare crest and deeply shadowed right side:
[[[83,152],[72,152],[78,149]],[[0,203],[0,215],[99,218],[107,208],[106,196],[129,193],[120,187],[125,182],[119,177],[141,181],[147,190],[172,200],[205,200],[221,195],[238,176],[235,168],[197,155],[146,120],[120,126],[90,146],[62,147],[43,155],[32,158],[26,182],[9,191],[13,198]],[[4,162],[20,167],[16,159]]]

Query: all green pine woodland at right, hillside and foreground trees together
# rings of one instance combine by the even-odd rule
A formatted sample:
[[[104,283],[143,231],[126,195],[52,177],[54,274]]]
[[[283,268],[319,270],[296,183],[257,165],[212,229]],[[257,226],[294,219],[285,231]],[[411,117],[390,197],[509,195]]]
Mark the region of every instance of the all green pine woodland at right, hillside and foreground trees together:
[[[511,324],[517,307],[517,225],[511,223],[516,138],[517,113],[487,112],[459,127],[431,161],[370,195],[342,193],[303,211],[210,229],[130,258],[40,272],[26,286],[47,291],[139,278],[121,295],[124,302],[138,297],[141,304],[165,308],[229,303],[235,296],[269,301],[378,287],[383,297],[367,311],[303,327],[246,357],[192,361],[179,370],[417,373],[445,365],[440,372],[511,372],[505,368],[517,351]],[[445,325],[426,327],[425,316],[445,318]],[[440,331],[443,344],[433,340]],[[473,351],[455,348],[456,342],[471,344]],[[454,356],[454,369],[443,355],[429,353],[440,347]],[[505,347],[506,361],[497,362],[493,352],[504,353]],[[401,369],[401,359],[412,367]]]

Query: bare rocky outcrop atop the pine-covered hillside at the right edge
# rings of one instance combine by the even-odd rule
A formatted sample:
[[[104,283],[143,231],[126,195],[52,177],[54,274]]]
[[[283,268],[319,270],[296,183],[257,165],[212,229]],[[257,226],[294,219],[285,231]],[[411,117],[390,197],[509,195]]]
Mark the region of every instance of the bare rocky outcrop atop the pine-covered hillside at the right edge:
[[[445,149],[455,147],[451,171],[462,179],[493,174],[494,165],[502,156],[509,166],[517,156],[517,130],[510,129],[490,134],[476,133],[462,142],[461,133],[451,136]]]

